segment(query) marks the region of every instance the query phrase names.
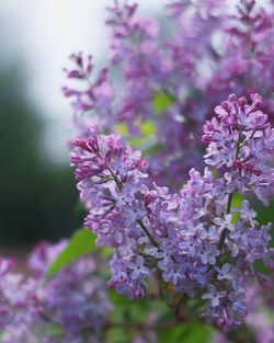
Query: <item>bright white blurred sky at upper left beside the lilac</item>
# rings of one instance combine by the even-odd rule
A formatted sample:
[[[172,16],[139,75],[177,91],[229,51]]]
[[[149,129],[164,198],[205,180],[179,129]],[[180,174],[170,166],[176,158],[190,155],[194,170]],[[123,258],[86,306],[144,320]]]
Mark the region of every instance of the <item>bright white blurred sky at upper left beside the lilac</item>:
[[[164,0],[137,0],[140,12],[163,9]],[[49,156],[66,161],[70,108],[60,92],[67,57],[83,50],[95,62],[107,57],[105,7],[112,0],[0,0],[0,52],[23,61],[27,94],[47,119]],[[19,55],[22,54],[22,55]]]

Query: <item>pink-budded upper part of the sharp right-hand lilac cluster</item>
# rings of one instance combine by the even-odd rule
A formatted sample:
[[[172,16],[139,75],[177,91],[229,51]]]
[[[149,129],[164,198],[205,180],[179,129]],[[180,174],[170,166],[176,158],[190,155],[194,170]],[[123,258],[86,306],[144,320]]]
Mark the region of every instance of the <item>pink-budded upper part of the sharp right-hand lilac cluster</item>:
[[[274,169],[267,165],[274,132],[267,115],[259,111],[262,99],[252,94],[251,101],[247,105],[244,98],[238,100],[232,94],[216,107],[219,121],[213,118],[204,126],[203,139],[209,142],[205,162],[218,169],[233,168],[225,174],[229,191],[252,192],[266,205],[274,191]]]

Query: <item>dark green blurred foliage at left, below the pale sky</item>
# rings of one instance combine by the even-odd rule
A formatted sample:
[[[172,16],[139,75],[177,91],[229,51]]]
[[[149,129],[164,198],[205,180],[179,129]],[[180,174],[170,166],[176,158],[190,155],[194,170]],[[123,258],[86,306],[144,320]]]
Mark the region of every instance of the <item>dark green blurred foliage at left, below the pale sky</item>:
[[[21,68],[0,70],[2,245],[57,240],[80,224],[72,171],[45,160],[45,123],[25,95],[26,84]]]

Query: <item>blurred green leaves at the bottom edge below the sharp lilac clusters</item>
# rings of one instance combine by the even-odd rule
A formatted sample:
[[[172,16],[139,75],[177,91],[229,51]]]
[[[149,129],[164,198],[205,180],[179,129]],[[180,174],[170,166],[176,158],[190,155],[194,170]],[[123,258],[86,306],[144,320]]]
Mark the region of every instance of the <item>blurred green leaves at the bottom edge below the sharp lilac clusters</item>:
[[[110,343],[127,343],[140,333],[138,328],[130,323],[148,322],[148,313],[158,316],[157,329],[151,330],[157,333],[159,343],[209,343],[213,329],[202,322],[179,323],[174,327],[161,328],[160,322],[167,323],[175,321],[174,312],[162,301],[148,297],[139,300],[128,300],[125,296],[117,295],[113,289],[110,290],[111,301],[115,308],[111,321],[124,322],[125,325],[111,329],[107,334]],[[128,324],[127,324],[128,323]],[[147,330],[149,332],[149,330]]]

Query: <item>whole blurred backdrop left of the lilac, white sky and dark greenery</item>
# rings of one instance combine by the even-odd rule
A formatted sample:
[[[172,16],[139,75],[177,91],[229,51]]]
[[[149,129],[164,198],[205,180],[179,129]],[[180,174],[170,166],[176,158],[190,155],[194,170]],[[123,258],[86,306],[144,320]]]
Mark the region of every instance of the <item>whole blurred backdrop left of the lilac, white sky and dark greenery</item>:
[[[138,0],[153,12],[164,0]],[[0,248],[24,253],[79,228],[83,214],[69,167],[71,110],[61,94],[68,56],[107,59],[112,0],[0,1]]]

